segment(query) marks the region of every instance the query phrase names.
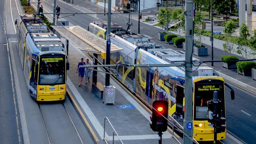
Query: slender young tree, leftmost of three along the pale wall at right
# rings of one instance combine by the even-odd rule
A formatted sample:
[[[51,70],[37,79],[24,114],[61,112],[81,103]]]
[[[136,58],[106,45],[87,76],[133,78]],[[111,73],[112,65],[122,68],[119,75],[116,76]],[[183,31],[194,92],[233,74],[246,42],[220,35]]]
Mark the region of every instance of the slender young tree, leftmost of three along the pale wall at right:
[[[226,39],[226,42],[223,44],[223,50],[224,52],[229,52],[231,56],[231,52],[233,51],[234,44],[231,42],[232,34],[236,31],[236,23],[232,20],[229,20],[226,22],[224,26],[223,32],[228,35],[228,39]]]

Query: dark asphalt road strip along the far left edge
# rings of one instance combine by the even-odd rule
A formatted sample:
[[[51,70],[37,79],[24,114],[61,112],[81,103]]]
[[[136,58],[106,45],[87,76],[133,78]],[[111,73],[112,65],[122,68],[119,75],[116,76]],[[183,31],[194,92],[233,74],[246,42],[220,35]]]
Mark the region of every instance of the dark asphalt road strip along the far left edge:
[[[15,107],[9,53],[4,33],[4,0],[0,0],[0,143],[19,144],[19,120]]]

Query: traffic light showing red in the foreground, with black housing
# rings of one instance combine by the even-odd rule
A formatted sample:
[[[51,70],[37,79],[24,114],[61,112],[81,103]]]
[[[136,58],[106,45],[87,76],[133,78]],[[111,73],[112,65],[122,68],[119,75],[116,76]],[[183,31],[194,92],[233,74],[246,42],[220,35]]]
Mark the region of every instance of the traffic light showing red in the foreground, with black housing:
[[[156,100],[153,102],[152,117],[150,117],[152,124],[150,128],[153,131],[166,131],[168,118],[168,103],[164,100]]]

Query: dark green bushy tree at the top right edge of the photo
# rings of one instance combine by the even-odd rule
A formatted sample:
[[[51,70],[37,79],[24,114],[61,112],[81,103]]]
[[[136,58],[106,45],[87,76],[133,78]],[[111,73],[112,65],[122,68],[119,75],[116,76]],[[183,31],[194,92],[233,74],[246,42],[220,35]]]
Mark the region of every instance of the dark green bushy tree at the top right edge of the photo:
[[[213,9],[218,13],[228,16],[228,13],[235,8],[235,0],[213,0]],[[226,18],[226,20],[228,20]]]

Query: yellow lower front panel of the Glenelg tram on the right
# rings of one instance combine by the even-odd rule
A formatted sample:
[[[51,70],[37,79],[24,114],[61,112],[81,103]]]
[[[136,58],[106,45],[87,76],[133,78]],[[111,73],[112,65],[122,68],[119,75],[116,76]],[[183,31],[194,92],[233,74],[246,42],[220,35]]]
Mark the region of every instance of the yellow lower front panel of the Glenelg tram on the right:
[[[213,127],[206,120],[193,120],[193,138],[197,141],[213,141]],[[226,132],[217,133],[217,140],[226,138]]]

